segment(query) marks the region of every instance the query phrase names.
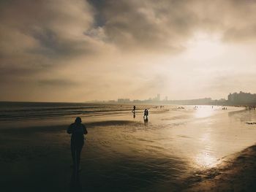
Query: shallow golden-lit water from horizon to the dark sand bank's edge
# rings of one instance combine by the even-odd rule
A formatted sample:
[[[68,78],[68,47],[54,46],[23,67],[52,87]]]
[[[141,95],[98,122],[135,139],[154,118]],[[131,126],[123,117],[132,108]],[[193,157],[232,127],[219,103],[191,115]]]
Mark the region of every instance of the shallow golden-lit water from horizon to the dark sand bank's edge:
[[[3,144],[7,148],[11,146],[14,154],[25,150],[25,155],[18,153],[15,164],[31,156],[29,147],[34,147],[41,156],[32,160],[29,169],[34,173],[14,174],[12,180],[25,185],[27,177],[38,174],[34,186],[45,179],[43,188],[50,185],[64,191],[71,176],[66,128],[76,116],[81,116],[89,131],[81,157],[80,183],[85,191],[154,191],[170,186],[178,190],[187,177],[214,167],[223,157],[253,145],[256,137],[255,128],[247,124],[256,122],[256,112],[238,107],[222,110],[215,106],[213,109],[211,106],[197,109],[184,106],[178,109],[166,105],[160,109],[140,105],[134,118],[132,106],[124,104],[13,105],[7,109],[1,104]],[[149,109],[148,122],[143,121],[145,108]],[[24,109],[26,112],[20,112]],[[47,155],[47,151],[55,153]],[[4,152],[1,156],[8,159]],[[61,172],[54,171],[55,161],[50,163],[54,156],[59,159],[56,166]],[[36,162],[41,169],[35,169]],[[23,166],[21,164],[20,169],[28,169]],[[49,169],[49,166],[53,167]],[[12,169],[12,172],[18,171]],[[2,179],[8,180],[8,177]],[[50,180],[54,185],[48,183]]]

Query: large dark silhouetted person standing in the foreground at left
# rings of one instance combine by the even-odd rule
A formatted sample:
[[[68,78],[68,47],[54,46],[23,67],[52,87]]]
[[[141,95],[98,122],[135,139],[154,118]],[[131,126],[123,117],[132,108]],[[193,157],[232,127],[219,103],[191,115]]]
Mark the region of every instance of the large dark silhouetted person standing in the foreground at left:
[[[81,118],[76,118],[75,123],[72,123],[69,128],[67,128],[67,133],[71,135],[71,153],[73,160],[73,168],[78,171],[80,169],[80,153],[84,144],[84,134],[87,134],[86,126],[82,124]]]

